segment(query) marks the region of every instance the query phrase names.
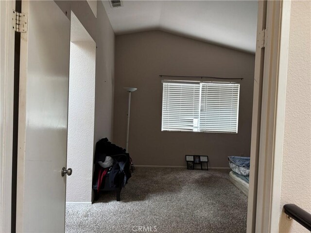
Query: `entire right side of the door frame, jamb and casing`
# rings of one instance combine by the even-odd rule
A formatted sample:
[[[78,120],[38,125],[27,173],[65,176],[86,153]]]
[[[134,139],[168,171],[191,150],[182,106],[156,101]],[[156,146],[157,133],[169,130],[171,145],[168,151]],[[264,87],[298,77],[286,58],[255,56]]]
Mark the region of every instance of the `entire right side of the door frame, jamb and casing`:
[[[290,15],[290,1],[259,1],[246,230],[249,233],[278,232]]]

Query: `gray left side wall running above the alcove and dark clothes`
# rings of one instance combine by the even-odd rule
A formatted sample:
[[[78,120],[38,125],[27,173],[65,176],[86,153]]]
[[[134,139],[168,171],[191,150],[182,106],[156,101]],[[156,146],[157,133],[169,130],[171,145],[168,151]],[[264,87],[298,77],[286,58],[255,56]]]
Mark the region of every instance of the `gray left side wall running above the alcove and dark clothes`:
[[[67,11],[69,19],[72,10],[96,42],[95,149],[99,139],[103,137],[111,139],[112,136],[115,34],[102,1],[97,1],[97,18],[86,1],[55,2],[63,12]]]

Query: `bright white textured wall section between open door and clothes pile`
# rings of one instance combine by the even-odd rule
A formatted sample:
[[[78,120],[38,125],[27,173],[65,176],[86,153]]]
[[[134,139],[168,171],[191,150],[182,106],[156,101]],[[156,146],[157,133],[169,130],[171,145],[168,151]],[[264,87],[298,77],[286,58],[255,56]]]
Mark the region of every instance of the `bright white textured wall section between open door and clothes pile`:
[[[92,197],[95,43],[70,43],[66,201]]]

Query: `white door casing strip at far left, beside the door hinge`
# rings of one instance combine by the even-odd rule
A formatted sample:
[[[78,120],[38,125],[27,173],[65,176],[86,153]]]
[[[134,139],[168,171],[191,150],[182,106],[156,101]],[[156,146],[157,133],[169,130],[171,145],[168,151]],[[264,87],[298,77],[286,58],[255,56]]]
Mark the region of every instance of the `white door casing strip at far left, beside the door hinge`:
[[[15,1],[0,1],[0,232],[11,232]]]

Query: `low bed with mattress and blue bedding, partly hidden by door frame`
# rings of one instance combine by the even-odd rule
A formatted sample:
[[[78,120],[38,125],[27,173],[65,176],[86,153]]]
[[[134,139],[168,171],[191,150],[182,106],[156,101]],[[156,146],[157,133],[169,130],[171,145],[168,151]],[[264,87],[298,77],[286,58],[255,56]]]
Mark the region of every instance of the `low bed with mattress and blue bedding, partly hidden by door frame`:
[[[243,194],[248,196],[249,187],[249,157],[228,157],[229,166],[232,171],[229,173],[229,180],[242,191]]]

